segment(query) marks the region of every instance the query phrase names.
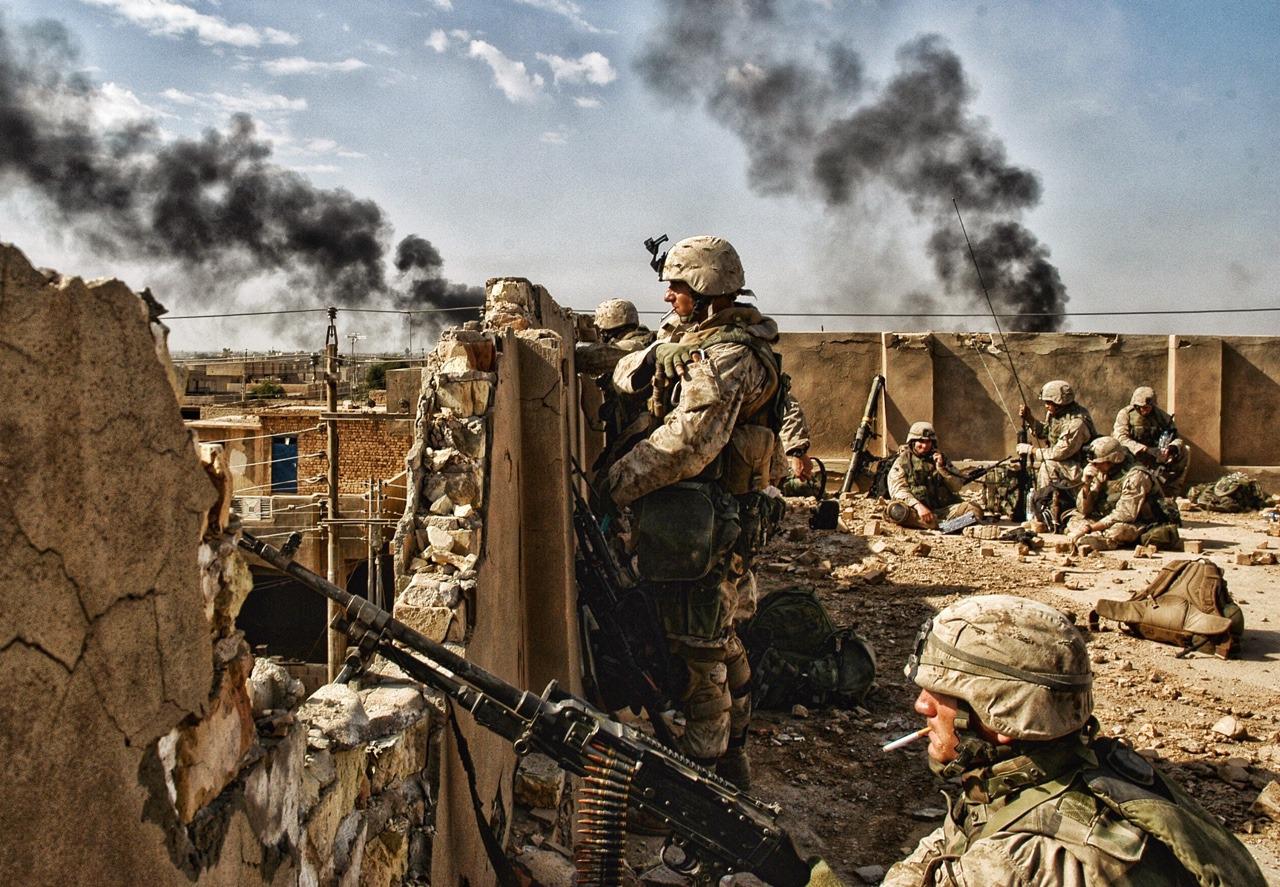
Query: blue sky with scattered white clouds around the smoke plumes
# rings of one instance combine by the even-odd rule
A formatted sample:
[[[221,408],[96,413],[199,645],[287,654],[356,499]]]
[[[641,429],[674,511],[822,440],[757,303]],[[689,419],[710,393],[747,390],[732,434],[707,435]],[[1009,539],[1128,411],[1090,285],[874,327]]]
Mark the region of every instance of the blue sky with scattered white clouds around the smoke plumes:
[[[589,0],[0,3],[10,29],[67,26],[104,127],[151,118],[189,138],[247,111],[276,163],[376,201],[388,242],[425,237],[449,280],[513,274],[575,307],[660,307],[640,241],[719,233],[765,311],[892,311],[913,296],[973,307],[942,292],[929,227],[895,188],[873,183],[840,207],[804,187],[753,188],[741,138],[699,93],[714,84],[664,95],[636,68],[645,45],[676,37],[669,14]],[[867,86],[851,109],[893,77],[901,45],[938,35],[974,91],[968,113],[1039,179],[1016,215],[1051,251],[1069,310],[1280,305],[1280,4],[794,0],[758,32],[800,61],[832,44],[856,51]],[[210,294],[172,264],[99,255],[20,177],[0,182],[0,238],[38,265],[150,284],[174,314],[279,301],[279,280]],[[1068,329],[1277,334],[1277,317]],[[819,324],[913,325],[782,321]],[[244,323],[172,326],[177,348],[269,340]],[[399,329],[388,347],[403,346]]]

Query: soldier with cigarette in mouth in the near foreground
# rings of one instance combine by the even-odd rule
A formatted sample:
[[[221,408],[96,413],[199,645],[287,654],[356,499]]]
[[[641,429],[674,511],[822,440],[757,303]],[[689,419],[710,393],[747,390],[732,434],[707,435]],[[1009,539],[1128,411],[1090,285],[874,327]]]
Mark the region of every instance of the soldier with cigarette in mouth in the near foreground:
[[[961,796],[886,887],[1265,883],[1212,814],[1098,736],[1089,651],[1057,611],[960,600],[925,623],[905,671],[920,686],[929,765],[959,777]],[[810,883],[833,883],[829,869]]]

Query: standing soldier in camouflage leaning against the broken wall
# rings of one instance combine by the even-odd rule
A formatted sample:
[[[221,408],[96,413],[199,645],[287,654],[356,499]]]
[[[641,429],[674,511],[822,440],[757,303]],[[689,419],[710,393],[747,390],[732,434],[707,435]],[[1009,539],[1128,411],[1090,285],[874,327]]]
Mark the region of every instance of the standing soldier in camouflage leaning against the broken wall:
[[[736,301],[749,291],[722,238],[681,241],[660,276],[678,342],[623,357],[613,381],[623,393],[652,385],[663,419],[613,463],[608,489],[617,506],[631,507],[641,580],[687,667],[684,749],[746,787],[750,668],[733,617],[741,599],[754,599],[750,557],[778,440],[777,324]]]

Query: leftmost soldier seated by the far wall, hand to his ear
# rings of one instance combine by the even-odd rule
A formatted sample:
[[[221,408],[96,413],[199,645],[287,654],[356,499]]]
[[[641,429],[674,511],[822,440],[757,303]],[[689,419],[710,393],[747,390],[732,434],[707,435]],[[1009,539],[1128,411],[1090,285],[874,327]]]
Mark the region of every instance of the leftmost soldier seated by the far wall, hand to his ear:
[[[888,518],[914,530],[937,529],[961,515],[982,517],[982,508],[960,498],[965,479],[938,452],[938,435],[928,422],[906,434],[888,471]]]

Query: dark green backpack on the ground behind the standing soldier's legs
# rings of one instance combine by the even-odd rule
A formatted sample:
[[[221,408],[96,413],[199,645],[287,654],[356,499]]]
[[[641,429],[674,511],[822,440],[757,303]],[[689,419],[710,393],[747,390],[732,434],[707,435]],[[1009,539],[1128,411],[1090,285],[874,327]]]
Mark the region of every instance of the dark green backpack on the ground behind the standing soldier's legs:
[[[760,600],[739,632],[751,663],[755,708],[852,707],[876,681],[876,651],[852,628],[837,628],[812,589]]]

